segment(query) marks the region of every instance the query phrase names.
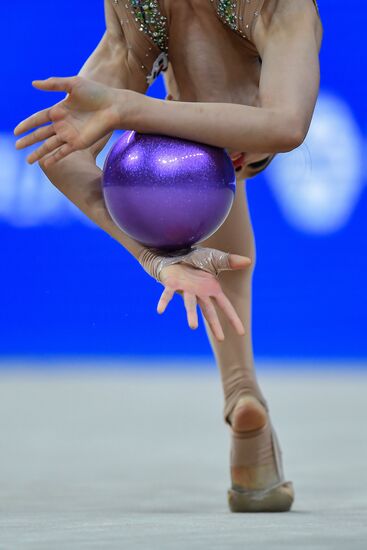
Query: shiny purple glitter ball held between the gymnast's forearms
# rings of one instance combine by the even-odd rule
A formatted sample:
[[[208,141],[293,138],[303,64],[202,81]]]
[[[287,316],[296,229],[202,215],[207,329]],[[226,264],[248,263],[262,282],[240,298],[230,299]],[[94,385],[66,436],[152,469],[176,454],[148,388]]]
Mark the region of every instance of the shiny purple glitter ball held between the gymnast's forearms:
[[[125,132],[103,166],[107,209],[145,246],[187,249],[229,214],[236,175],[228,153],[185,139]]]

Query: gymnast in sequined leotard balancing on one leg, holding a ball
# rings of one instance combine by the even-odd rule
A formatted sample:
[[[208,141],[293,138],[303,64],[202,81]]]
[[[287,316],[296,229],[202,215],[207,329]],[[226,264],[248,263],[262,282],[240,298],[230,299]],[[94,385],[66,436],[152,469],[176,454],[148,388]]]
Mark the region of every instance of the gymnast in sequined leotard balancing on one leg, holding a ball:
[[[255,244],[246,180],[305,139],[319,91],[322,23],[315,0],[105,0],[106,30],[78,75],[35,80],[66,97],[20,122],[18,149],[99,227],[126,248],[187,321],[199,306],[221,375],[231,434],[233,512],[290,510],[294,488],[259,387],[251,337]],[[167,95],[146,91],[162,72]],[[115,129],[225,148],[237,192],[224,224],[174,259],[119,230],[102,196],[96,158]]]

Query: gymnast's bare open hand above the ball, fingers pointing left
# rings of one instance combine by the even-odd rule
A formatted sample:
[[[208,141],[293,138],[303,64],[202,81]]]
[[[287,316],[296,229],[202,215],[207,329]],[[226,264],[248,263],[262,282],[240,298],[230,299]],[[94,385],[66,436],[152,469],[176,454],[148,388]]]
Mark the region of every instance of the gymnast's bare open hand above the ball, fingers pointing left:
[[[43,159],[44,166],[49,166],[73,151],[90,147],[113,130],[116,118],[113,88],[81,76],[51,77],[33,80],[32,84],[40,90],[65,91],[67,96],[26,118],[14,129],[17,136],[36,128],[17,140],[17,149],[46,140],[27,157],[29,164]],[[38,128],[48,122],[51,124]]]

